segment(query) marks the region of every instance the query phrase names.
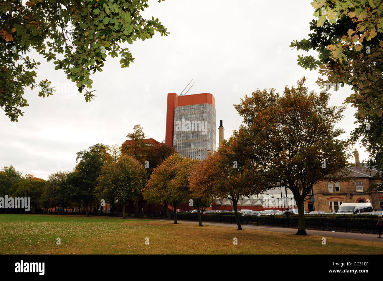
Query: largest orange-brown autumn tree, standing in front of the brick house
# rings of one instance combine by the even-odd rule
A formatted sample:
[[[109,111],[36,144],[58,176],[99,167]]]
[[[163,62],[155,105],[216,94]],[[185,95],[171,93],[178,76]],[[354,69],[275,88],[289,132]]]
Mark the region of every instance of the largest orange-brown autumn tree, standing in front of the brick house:
[[[286,86],[283,96],[257,89],[235,105],[244,124],[234,132],[237,148],[257,162],[255,185],[290,188],[299,210],[298,235],[306,235],[306,196],[322,180],[342,180],[349,156],[339,138],[344,131],[335,127],[344,107],[329,106],[325,91],[308,93],[304,82]]]

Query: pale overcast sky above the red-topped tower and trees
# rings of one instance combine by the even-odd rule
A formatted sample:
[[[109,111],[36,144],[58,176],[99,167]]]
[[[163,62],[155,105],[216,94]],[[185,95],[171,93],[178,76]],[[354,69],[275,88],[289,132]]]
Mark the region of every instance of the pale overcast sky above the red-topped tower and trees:
[[[37,88],[25,89],[24,117],[16,123],[0,116],[0,166],[47,179],[57,170],[71,171],[77,151],[123,143],[136,124],[147,137],[162,141],[167,93],[179,94],[191,79],[196,83],[188,94],[215,97],[218,143],[219,120],[225,138],[241,124],[233,104],[245,94],[257,88],[282,93],[302,76],[319,91],[318,71],[299,67],[296,58],[302,52],[289,47],[294,39],[308,37],[313,12],[304,0],[151,0],[145,16],[159,18],[170,35],[127,44],[135,58],[129,68],[108,56],[103,71],[91,76],[97,97],[88,103],[63,71],[32,53],[41,62],[36,81],[47,78],[57,92],[42,98]],[[351,91],[346,86],[331,93],[331,104],[341,105]],[[349,106],[339,124],[344,137],[355,126],[354,113]],[[363,148],[354,148],[361,161],[367,159]]]

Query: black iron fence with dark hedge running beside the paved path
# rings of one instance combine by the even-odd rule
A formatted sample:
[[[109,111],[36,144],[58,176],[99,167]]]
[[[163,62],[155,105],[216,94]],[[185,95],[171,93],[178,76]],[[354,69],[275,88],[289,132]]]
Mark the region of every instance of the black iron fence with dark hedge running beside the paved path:
[[[171,214],[173,218],[173,214]],[[198,221],[197,213],[177,213],[177,219],[186,221]],[[236,223],[234,214],[201,214],[201,219],[209,223]],[[239,220],[243,225],[271,226],[298,228],[298,216],[261,215],[241,216]],[[306,229],[378,233],[377,215],[348,215],[348,214],[313,214],[305,215]]]

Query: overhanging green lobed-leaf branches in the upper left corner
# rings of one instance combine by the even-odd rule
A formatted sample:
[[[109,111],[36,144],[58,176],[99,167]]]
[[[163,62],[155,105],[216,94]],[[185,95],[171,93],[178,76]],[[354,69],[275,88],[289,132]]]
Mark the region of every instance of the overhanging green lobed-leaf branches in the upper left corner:
[[[161,2],[159,0],[158,2]],[[121,57],[121,67],[134,58],[124,43],[167,36],[158,18],[144,18],[148,1],[38,0],[0,2],[0,107],[11,121],[28,106],[24,89],[40,88],[39,96],[52,95],[48,80],[36,83],[35,50],[62,70],[89,102],[95,96],[90,78],[102,71],[106,57]]]

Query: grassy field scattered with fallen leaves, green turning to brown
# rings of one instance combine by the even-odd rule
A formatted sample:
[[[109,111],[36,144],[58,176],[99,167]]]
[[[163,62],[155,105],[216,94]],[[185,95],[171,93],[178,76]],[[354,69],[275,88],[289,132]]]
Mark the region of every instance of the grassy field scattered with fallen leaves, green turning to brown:
[[[56,238],[61,238],[61,245]],[[149,245],[145,238],[149,238]],[[238,244],[233,244],[236,237]],[[383,243],[171,221],[0,214],[3,254],[380,254]]]

